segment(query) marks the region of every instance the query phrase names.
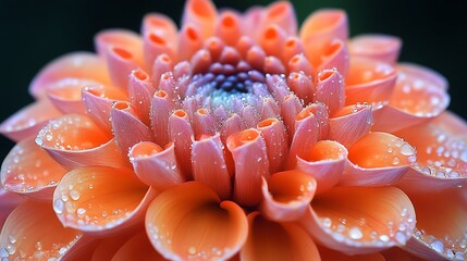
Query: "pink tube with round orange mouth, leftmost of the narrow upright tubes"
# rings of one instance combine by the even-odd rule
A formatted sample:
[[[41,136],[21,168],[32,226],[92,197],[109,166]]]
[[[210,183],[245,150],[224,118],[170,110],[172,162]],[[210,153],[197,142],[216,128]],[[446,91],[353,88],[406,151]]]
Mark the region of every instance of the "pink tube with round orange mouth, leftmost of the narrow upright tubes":
[[[122,154],[127,154],[130,148],[139,141],[153,141],[152,132],[139,119],[126,101],[113,103],[110,111],[112,133]]]

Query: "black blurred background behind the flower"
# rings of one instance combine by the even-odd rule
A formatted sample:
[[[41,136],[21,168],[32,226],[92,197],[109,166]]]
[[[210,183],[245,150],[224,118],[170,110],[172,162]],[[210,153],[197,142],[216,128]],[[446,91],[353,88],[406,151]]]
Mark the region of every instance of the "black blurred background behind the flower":
[[[218,8],[246,10],[272,1],[214,1]],[[294,0],[299,22],[319,8],[347,11],[351,36],[364,33],[403,39],[401,61],[431,67],[450,82],[450,109],[467,119],[467,15],[465,0]],[[33,101],[27,87],[52,59],[77,50],[93,51],[99,30],[138,32],[142,17],[161,12],[179,23],[182,0],[0,0],[0,121]],[[0,137],[0,159],[13,147]]]

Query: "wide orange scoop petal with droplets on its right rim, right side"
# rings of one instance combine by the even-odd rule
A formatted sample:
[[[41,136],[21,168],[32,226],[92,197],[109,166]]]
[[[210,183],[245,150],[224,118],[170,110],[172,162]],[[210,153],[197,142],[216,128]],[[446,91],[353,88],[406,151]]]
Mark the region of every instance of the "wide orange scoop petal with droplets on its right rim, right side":
[[[386,133],[370,133],[348,149],[340,185],[388,186],[398,182],[416,160],[416,150]]]

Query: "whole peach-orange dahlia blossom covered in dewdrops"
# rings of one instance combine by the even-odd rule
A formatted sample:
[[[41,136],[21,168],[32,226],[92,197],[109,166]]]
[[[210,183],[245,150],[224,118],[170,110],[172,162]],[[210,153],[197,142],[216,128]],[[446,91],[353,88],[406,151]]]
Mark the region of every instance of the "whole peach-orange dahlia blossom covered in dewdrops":
[[[188,0],[50,62],[0,130],[5,260],[464,260],[467,125],[341,10]]]

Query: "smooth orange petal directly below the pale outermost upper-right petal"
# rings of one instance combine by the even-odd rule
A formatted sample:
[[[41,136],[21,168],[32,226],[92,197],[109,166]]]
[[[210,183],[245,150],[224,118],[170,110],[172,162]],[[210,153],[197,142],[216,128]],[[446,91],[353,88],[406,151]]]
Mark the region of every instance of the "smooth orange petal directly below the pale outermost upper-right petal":
[[[348,76],[345,78],[345,104],[384,103],[389,101],[396,79],[396,70],[388,63],[352,58]]]

